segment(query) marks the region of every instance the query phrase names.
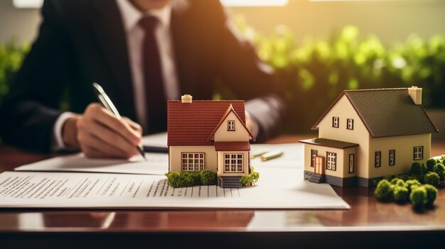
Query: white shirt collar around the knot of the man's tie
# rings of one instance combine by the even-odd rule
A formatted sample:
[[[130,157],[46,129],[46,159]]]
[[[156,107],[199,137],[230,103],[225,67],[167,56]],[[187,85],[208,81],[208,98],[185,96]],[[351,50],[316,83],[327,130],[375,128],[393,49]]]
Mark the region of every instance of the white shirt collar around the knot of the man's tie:
[[[125,31],[131,31],[144,16],[154,16],[158,18],[161,26],[165,28],[170,26],[171,4],[167,4],[162,9],[155,9],[144,13],[139,11],[139,9],[136,9],[129,0],[116,0],[116,2],[122,14]]]

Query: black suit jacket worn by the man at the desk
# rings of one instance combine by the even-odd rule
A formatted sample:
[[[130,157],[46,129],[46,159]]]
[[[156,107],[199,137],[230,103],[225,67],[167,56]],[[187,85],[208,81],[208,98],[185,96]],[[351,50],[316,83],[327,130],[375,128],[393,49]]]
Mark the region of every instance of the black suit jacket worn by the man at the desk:
[[[127,41],[120,11],[112,0],[45,0],[43,23],[0,110],[6,143],[49,151],[60,101],[82,113],[96,101],[100,82],[123,116],[137,121]],[[281,119],[277,84],[250,43],[235,35],[218,0],[173,0],[171,33],[181,93],[211,99],[218,82],[240,99],[262,98],[248,108],[261,136]],[[255,101],[259,101],[258,99]],[[249,105],[247,105],[249,107]]]

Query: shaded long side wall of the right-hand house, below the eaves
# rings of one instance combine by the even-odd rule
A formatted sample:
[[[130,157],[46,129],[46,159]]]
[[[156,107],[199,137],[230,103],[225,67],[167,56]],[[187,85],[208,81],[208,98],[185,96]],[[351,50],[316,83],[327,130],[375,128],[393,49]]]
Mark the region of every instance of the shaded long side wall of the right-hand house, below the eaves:
[[[404,135],[386,138],[370,139],[370,157],[368,158],[369,177],[382,177],[384,175],[404,174],[409,172],[414,162],[414,147],[424,147],[424,162],[431,156],[431,134]],[[395,150],[395,165],[389,165],[390,150]],[[375,167],[375,152],[381,151],[381,166]]]

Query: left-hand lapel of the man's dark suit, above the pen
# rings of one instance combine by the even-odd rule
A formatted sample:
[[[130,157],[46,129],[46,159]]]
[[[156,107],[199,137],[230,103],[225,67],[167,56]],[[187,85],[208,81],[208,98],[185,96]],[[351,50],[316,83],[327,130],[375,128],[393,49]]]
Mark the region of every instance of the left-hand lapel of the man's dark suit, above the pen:
[[[116,1],[95,0],[92,28],[109,67],[112,82],[99,82],[122,115],[136,120],[127,39]]]

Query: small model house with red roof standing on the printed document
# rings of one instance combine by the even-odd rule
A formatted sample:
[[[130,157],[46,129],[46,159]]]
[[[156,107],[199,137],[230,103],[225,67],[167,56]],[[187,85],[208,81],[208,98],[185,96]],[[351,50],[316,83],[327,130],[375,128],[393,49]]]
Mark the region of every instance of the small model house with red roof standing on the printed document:
[[[168,170],[210,170],[221,187],[242,187],[250,174],[250,139],[244,101],[168,101]]]

